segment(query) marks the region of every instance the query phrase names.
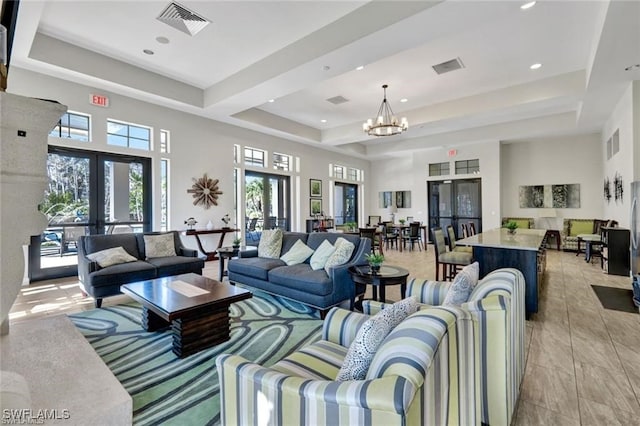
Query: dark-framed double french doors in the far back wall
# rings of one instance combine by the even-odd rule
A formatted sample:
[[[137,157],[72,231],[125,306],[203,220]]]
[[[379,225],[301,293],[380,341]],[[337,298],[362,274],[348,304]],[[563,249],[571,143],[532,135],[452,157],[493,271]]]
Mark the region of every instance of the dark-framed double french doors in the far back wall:
[[[446,230],[448,225],[452,225],[456,238],[461,238],[461,225],[463,223],[473,223],[476,232],[482,232],[482,187],[480,179],[429,181],[427,186],[429,228],[441,227]],[[446,232],[445,235],[447,235]]]

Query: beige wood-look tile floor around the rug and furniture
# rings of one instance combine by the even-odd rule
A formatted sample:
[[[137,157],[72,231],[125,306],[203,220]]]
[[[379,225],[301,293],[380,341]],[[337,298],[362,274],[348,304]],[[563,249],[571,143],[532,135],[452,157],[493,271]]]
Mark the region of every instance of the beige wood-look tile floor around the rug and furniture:
[[[591,284],[630,288],[629,279],[607,275],[574,253],[549,250],[540,311],[527,321],[527,364],[515,425],[640,424],[640,315],[603,309]],[[387,263],[412,277],[435,277],[433,248],[388,250]],[[204,275],[217,278],[218,263]],[[399,299],[399,288],[387,291]],[[105,299],[104,305],[128,301]],[[77,280],[58,279],[25,287],[12,322],[93,309]]]

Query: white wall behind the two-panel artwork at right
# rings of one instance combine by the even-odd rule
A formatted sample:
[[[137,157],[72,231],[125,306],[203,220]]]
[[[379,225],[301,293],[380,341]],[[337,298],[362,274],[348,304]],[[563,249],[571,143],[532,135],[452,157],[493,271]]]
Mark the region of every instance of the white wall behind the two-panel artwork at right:
[[[580,208],[556,209],[556,229],[561,229],[562,218],[604,218],[599,134],[505,143],[501,151],[502,216],[538,218],[540,209],[520,208],[522,185],[578,183]]]

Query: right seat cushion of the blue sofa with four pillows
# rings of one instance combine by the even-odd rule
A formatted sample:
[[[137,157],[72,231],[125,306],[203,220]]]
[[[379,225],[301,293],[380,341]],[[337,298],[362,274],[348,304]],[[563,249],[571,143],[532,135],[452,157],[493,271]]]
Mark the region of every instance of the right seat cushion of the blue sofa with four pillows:
[[[319,296],[326,296],[334,291],[331,278],[322,269],[314,271],[306,263],[271,269],[269,282]]]

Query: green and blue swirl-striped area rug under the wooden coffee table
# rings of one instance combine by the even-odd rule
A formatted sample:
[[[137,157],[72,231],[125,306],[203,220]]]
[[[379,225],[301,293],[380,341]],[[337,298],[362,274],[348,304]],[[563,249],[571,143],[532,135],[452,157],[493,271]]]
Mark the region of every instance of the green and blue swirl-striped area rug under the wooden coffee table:
[[[135,425],[219,424],[218,355],[233,353],[269,366],[318,340],[322,328],[313,309],[254,292],[231,306],[231,340],[179,359],[168,330],[140,328],[141,312],[131,303],[69,315],[133,398]]]

